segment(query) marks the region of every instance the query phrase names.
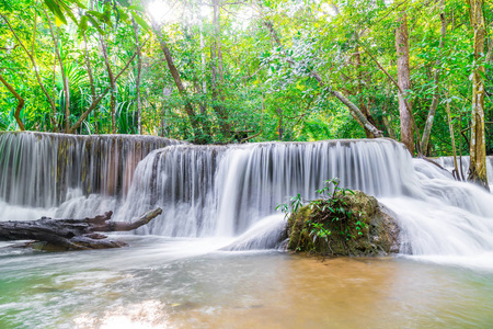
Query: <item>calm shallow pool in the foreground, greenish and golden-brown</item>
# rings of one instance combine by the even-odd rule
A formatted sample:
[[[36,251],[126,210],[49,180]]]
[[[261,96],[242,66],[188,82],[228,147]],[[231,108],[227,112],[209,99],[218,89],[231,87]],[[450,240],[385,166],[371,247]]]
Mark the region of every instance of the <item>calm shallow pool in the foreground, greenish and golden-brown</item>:
[[[228,241],[0,252],[0,328],[491,327],[493,273],[403,258],[211,252]]]

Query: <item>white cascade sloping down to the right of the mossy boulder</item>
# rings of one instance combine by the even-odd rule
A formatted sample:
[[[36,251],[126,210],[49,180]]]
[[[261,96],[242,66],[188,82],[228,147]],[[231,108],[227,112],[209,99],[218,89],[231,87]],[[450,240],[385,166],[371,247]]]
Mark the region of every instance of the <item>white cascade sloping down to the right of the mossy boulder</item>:
[[[492,194],[455,181],[433,163],[413,162],[415,182],[424,197],[379,198],[400,222],[400,251],[420,257],[493,256]],[[488,265],[493,266],[493,258]]]

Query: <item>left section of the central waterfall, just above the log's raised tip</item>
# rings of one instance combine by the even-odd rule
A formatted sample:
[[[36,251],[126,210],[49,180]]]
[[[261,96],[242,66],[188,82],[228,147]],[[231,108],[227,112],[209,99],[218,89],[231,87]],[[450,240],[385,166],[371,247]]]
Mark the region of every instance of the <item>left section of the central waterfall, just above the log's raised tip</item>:
[[[216,171],[225,150],[221,146],[179,145],[151,152],[137,167],[127,202],[115,217],[124,220],[159,206],[163,214],[141,227],[140,234],[215,236]]]

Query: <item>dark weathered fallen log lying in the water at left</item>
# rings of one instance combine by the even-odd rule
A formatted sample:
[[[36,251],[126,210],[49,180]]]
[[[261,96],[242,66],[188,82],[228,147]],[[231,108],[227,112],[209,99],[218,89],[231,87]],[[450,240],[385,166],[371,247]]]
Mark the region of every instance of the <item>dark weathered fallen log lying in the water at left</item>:
[[[101,232],[129,231],[162,214],[161,208],[149,211],[133,222],[111,222],[113,212],[82,219],[0,222],[0,241],[33,240],[24,246],[48,251],[88,250],[125,247],[127,243],[107,239]]]

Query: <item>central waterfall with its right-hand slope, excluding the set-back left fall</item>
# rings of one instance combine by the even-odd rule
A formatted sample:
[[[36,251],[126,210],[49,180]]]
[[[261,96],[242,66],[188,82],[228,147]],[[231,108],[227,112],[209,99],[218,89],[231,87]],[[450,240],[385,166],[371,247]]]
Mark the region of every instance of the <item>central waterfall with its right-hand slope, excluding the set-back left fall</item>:
[[[491,194],[411,159],[391,140],[172,146],[150,154],[121,215],[161,206],[140,234],[239,236],[229,249],[272,248],[283,227],[276,204],[316,197],[323,181],[377,196],[402,226],[405,253],[471,256],[493,250]],[[271,219],[263,219],[268,217]]]

